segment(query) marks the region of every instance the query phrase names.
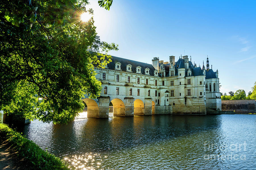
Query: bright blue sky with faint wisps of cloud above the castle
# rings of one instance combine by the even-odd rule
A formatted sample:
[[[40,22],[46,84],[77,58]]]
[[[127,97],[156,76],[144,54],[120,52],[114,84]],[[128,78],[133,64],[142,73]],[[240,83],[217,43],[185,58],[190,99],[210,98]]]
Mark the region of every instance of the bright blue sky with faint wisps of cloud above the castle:
[[[89,2],[100,39],[119,45],[108,54],[146,63],[154,57],[169,61],[169,56],[177,61],[185,54],[201,67],[208,55],[219,72],[220,92],[251,91],[256,1],[113,0],[109,11]]]

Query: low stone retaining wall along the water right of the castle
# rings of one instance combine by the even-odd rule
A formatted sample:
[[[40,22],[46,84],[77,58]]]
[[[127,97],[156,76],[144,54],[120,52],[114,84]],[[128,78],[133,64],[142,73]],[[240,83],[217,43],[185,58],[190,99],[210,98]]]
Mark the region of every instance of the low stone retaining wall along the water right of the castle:
[[[255,100],[222,100],[222,111],[234,111],[236,113],[256,113]]]

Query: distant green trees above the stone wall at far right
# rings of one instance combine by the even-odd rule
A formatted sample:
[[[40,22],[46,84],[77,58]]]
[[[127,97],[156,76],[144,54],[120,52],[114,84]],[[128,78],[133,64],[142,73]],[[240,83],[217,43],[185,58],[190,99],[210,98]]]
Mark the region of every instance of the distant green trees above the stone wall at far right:
[[[222,100],[250,100],[250,99],[255,99],[256,100],[256,82],[254,83],[254,86],[251,88],[252,91],[248,92],[248,95],[246,96],[246,93],[244,90],[237,90],[235,93],[230,91],[228,92],[229,95],[224,93],[221,94],[221,99]]]

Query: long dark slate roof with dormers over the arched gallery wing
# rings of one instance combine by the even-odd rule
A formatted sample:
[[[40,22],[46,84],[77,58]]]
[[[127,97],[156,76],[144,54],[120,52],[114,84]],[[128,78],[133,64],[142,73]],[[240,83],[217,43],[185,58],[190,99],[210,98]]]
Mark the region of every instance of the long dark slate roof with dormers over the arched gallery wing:
[[[132,65],[132,68],[131,68],[132,73],[136,73],[136,67],[140,66],[142,75],[145,75],[144,70],[146,68],[149,68],[149,75],[154,76],[155,68],[151,64],[142,63],[142,62],[139,62],[139,61],[134,61],[134,60],[115,57],[115,56],[112,56],[111,60],[112,61],[110,63],[108,63],[108,65],[107,65],[108,69],[110,69],[110,70],[115,70],[115,63],[119,62],[119,63],[121,63],[121,71],[125,71],[127,73],[130,73],[129,71],[126,71],[126,65],[131,64]]]

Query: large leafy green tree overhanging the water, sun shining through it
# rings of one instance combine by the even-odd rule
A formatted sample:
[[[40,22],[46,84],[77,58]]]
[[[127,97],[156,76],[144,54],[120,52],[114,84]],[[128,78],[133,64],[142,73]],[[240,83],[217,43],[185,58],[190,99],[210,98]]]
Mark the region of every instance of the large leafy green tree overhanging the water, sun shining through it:
[[[94,66],[111,61],[115,44],[100,41],[87,0],[6,0],[0,4],[0,109],[30,120],[67,123],[96,98]],[[111,4],[110,4],[111,5]]]

